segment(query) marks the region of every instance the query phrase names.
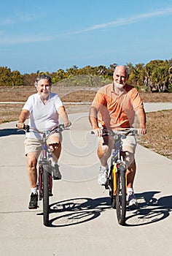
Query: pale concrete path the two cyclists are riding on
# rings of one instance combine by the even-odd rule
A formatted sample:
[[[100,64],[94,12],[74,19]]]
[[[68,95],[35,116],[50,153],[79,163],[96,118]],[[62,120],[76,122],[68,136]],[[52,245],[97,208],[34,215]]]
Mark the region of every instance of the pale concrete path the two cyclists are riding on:
[[[0,126],[0,255],[151,255],[172,254],[172,161],[138,146],[135,191],[138,208],[117,223],[109,193],[98,185],[97,140],[87,113],[71,114],[63,134],[60,170],[54,182],[50,227],[42,225],[42,202],[28,210],[30,192],[23,157],[24,135],[15,122]]]

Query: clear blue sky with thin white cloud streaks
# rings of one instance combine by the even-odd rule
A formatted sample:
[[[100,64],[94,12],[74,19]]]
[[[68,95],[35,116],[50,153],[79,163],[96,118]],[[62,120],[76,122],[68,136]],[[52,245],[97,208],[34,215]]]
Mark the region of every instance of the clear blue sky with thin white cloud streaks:
[[[7,0],[0,67],[22,74],[172,58],[171,0]]]

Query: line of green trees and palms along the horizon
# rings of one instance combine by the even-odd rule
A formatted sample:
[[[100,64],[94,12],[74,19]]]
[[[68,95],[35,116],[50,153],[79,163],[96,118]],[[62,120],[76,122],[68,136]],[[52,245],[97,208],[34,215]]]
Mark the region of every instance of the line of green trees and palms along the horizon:
[[[112,82],[112,76],[116,63],[109,67],[82,67],[76,65],[69,69],[58,69],[56,72],[43,72],[52,77],[52,83],[58,86],[103,86]],[[169,60],[153,60],[149,63],[133,65],[127,63],[129,79],[128,83],[136,86],[138,90],[172,92],[172,58]],[[0,86],[33,86],[36,73],[20,74],[12,71],[9,67],[0,67]]]

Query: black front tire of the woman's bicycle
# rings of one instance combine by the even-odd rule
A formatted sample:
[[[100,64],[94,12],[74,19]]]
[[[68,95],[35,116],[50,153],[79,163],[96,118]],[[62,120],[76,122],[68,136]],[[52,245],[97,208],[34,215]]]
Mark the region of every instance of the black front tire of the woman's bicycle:
[[[43,165],[43,223],[49,225],[49,166]]]

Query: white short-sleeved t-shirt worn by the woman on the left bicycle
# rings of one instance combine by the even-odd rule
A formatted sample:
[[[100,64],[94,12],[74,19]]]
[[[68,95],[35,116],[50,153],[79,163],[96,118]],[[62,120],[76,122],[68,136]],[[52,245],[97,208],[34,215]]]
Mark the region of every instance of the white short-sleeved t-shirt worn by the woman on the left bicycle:
[[[30,112],[28,125],[44,131],[52,129],[58,125],[58,108],[63,106],[58,94],[50,93],[47,102],[44,104],[40,95],[32,94],[28,97],[23,109]],[[41,139],[42,135],[38,132],[26,132],[26,138]]]

